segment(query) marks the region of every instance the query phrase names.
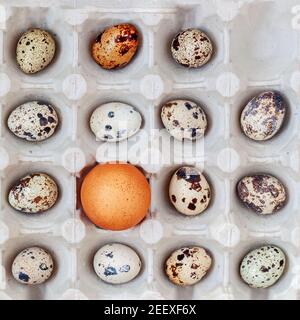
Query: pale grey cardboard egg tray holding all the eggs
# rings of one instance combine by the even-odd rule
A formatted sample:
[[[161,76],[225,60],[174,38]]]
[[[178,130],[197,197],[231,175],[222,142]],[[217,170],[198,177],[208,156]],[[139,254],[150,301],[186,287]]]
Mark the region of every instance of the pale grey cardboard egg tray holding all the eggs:
[[[106,71],[92,60],[90,44],[120,22],[138,27],[141,46],[127,67]],[[29,27],[49,30],[58,44],[55,61],[35,75],[23,74],[15,61],[16,42]],[[215,45],[201,69],[184,68],[170,54],[173,36],[188,27],[203,29]],[[299,66],[298,0],[1,0],[0,299],[299,299]],[[285,96],[289,114],[280,134],[256,143],[242,134],[239,116],[252,96],[269,89]],[[184,149],[160,131],[160,108],[175,98],[199,102],[209,120],[205,139]],[[31,99],[53,103],[60,116],[56,134],[37,144],[6,126],[10,111]],[[132,104],[143,116],[142,130],[117,152],[115,144],[96,141],[88,125],[92,110],[111,101]],[[77,197],[84,168],[114,160],[141,167],[152,188],[147,218],[122,232],[96,228]],[[180,215],[168,201],[169,179],[184,164],[201,168],[212,186],[211,205],[196,217]],[[44,214],[20,214],[7,202],[9,187],[37,171],[56,179],[60,199]],[[235,193],[241,177],[258,172],[288,189],[287,205],[269,217],[247,210]],[[96,250],[111,241],[132,246],[143,260],[130,283],[106,284],[92,269]],[[285,251],[286,272],[269,289],[251,289],[239,277],[239,263],[266,243]],[[175,286],[164,261],[193,244],[211,251],[213,268],[193,287]],[[13,258],[31,245],[47,248],[56,262],[53,277],[40,286],[21,285],[11,275]]]

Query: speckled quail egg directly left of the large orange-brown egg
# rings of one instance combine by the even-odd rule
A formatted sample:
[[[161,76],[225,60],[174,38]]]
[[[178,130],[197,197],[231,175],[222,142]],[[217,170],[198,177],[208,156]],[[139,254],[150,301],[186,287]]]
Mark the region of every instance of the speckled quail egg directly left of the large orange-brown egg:
[[[8,202],[24,213],[41,213],[57,201],[58,187],[45,173],[33,173],[20,179],[9,191]]]

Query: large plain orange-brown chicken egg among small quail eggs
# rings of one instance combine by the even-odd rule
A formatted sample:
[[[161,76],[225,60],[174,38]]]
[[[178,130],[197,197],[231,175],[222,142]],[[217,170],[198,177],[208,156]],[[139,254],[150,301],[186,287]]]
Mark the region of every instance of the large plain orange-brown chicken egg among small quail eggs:
[[[145,218],[150,207],[150,194],[146,177],[135,166],[98,164],[84,178],[81,203],[96,226],[125,230]]]

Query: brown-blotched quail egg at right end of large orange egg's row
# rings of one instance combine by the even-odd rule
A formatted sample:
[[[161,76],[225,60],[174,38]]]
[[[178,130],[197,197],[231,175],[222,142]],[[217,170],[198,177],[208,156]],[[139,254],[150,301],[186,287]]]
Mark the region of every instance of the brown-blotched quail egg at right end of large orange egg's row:
[[[262,215],[277,212],[287,201],[283,183],[268,174],[242,178],[237,185],[237,193],[249,209]]]

